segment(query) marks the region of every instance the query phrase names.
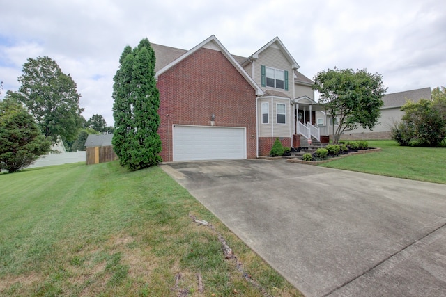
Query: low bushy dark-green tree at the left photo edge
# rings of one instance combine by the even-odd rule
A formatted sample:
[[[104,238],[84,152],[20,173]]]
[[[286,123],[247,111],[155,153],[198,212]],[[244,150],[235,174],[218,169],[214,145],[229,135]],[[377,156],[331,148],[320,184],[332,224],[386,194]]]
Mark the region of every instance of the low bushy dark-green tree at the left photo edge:
[[[13,99],[0,101],[0,168],[10,173],[47,154],[51,141],[40,133],[33,116]]]

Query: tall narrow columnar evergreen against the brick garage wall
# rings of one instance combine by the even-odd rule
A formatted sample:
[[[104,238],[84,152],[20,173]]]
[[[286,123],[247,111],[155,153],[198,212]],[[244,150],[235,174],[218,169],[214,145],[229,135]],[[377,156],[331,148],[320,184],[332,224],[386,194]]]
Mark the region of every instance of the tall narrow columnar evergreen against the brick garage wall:
[[[139,170],[160,163],[160,93],[155,81],[155,53],[147,39],[127,46],[113,86],[113,145],[121,166]]]

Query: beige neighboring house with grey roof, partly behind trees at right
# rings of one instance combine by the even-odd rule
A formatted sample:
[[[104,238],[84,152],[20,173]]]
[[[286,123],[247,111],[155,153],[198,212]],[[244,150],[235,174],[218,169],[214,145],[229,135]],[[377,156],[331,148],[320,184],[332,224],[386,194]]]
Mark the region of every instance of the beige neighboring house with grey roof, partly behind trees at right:
[[[394,126],[394,123],[399,122],[404,115],[404,112],[401,111],[401,106],[406,104],[408,100],[418,102],[420,99],[431,100],[431,88],[420,88],[384,95],[384,105],[381,107],[381,115],[374,129],[363,129],[360,127],[351,131],[345,131],[341,135],[341,139],[391,139],[390,130]],[[338,120],[338,118],[334,119],[335,130]],[[321,135],[332,136],[333,120],[330,114],[319,111],[316,113],[316,122],[321,129]]]

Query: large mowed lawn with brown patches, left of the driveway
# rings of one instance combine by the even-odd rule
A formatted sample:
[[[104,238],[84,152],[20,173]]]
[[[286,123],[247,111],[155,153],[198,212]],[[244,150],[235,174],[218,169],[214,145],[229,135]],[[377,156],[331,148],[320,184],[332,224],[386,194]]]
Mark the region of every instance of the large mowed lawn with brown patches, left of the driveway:
[[[34,168],[0,193],[0,296],[300,296],[158,167]]]

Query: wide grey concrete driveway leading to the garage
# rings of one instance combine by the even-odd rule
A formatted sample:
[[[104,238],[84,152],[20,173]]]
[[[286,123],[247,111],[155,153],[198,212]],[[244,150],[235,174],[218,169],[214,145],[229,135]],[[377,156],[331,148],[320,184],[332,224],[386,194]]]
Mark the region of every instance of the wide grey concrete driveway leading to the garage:
[[[162,168],[306,296],[446,296],[446,185],[282,160]]]

